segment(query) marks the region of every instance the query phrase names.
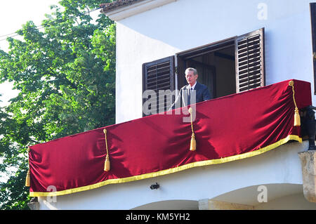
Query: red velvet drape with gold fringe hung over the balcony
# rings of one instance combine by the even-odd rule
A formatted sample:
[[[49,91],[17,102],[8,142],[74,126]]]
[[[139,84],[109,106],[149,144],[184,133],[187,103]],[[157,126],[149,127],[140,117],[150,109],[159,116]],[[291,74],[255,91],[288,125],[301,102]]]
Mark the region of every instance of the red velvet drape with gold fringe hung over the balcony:
[[[310,83],[294,80],[298,108],[311,105]],[[197,103],[193,121],[197,150],[190,151],[191,123],[185,114],[155,114],[48,143],[29,152],[31,196],[89,190],[110,183],[150,178],[194,166],[229,162],[301,140],[294,126],[294,100],[288,81]],[[110,171],[104,171],[105,134]]]

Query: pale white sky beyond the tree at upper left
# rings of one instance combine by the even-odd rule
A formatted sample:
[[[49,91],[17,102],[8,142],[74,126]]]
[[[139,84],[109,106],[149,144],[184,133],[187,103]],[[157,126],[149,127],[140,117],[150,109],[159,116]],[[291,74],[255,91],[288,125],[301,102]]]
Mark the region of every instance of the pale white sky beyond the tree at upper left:
[[[32,20],[35,25],[41,25],[41,20],[45,19],[45,14],[51,13],[51,5],[58,5],[60,0],[1,0],[0,1],[0,39],[6,34],[12,34],[27,21]],[[0,41],[0,48],[8,51],[8,42]],[[12,84],[0,84],[0,106],[7,104],[7,100],[17,95],[17,91],[12,90]]]

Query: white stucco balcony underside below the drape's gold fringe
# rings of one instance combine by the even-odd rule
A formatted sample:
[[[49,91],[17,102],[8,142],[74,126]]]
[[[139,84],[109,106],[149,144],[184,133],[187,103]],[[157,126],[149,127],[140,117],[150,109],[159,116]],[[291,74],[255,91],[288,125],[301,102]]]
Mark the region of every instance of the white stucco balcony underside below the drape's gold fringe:
[[[56,202],[51,203],[47,202],[46,197],[39,197],[40,209],[133,209],[144,204],[166,200],[212,199],[253,185],[284,183],[302,185],[301,162],[297,153],[306,150],[307,147],[307,142],[287,143],[255,157],[187,169],[157,178],[106,185],[95,190],[58,196]],[[160,188],[150,190],[150,185],[156,182],[159,183]],[[282,192],[285,191],[286,189],[283,189],[274,197],[268,197],[268,202],[277,199],[278,195],[284,197]],[[289,189],[287,195],[291,193],[301,193],[303,197],[303,186],[301,192],[297,189]],[[258,204],[258,194],[257,187],[252,187],[251,190],[237,192],[236,196],[247,198],[248,204]],[[253,197],[249,198],[249,195]],[[287,203],[286,200],[284,203]],[[262,208],[269,209],[266,205]]]

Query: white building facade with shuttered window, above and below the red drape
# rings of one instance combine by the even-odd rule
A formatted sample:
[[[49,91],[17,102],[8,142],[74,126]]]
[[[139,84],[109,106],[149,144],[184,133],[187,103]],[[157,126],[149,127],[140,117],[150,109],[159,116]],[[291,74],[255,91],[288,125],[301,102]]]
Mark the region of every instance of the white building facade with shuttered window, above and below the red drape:
[[[307,0],[105,4],[117,25],[116,123],[146,115],[146,90],[180,89],[186,67],[197,68],[214,98],[299,79],[310,82],[316,105],[313,7]],[[298,153],[307,149],[307,141],[287,143],[235,162],[39,197],[39,209],[316,209],[303,192]]]

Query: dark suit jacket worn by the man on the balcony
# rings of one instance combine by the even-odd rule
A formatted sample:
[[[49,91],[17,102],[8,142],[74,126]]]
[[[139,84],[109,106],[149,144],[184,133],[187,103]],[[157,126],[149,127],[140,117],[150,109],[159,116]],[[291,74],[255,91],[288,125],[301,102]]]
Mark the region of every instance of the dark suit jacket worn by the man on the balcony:
[[[175,107],[185,107],[187,105],[190,105],[190,101],[191,103],[199,103],[205,100],[211,100],[212,97],[211,97],[211,93],[209,92],[209,88],[197,82],[197,84],[195,85],[195,89],[193,90],[195,91],[196,100],[194,102],[194,99],[192,100],[192,98],[190,98],[191,100],[188,102],[187,100],[187,95],[188,95],[187,86],[188,85],[189,84],[187,84],[186,86],[183,86],[180,89],[180,93],[178,94],[176,100],[174,101],[173,105],[171,105],[169,110],[175,109]]]

